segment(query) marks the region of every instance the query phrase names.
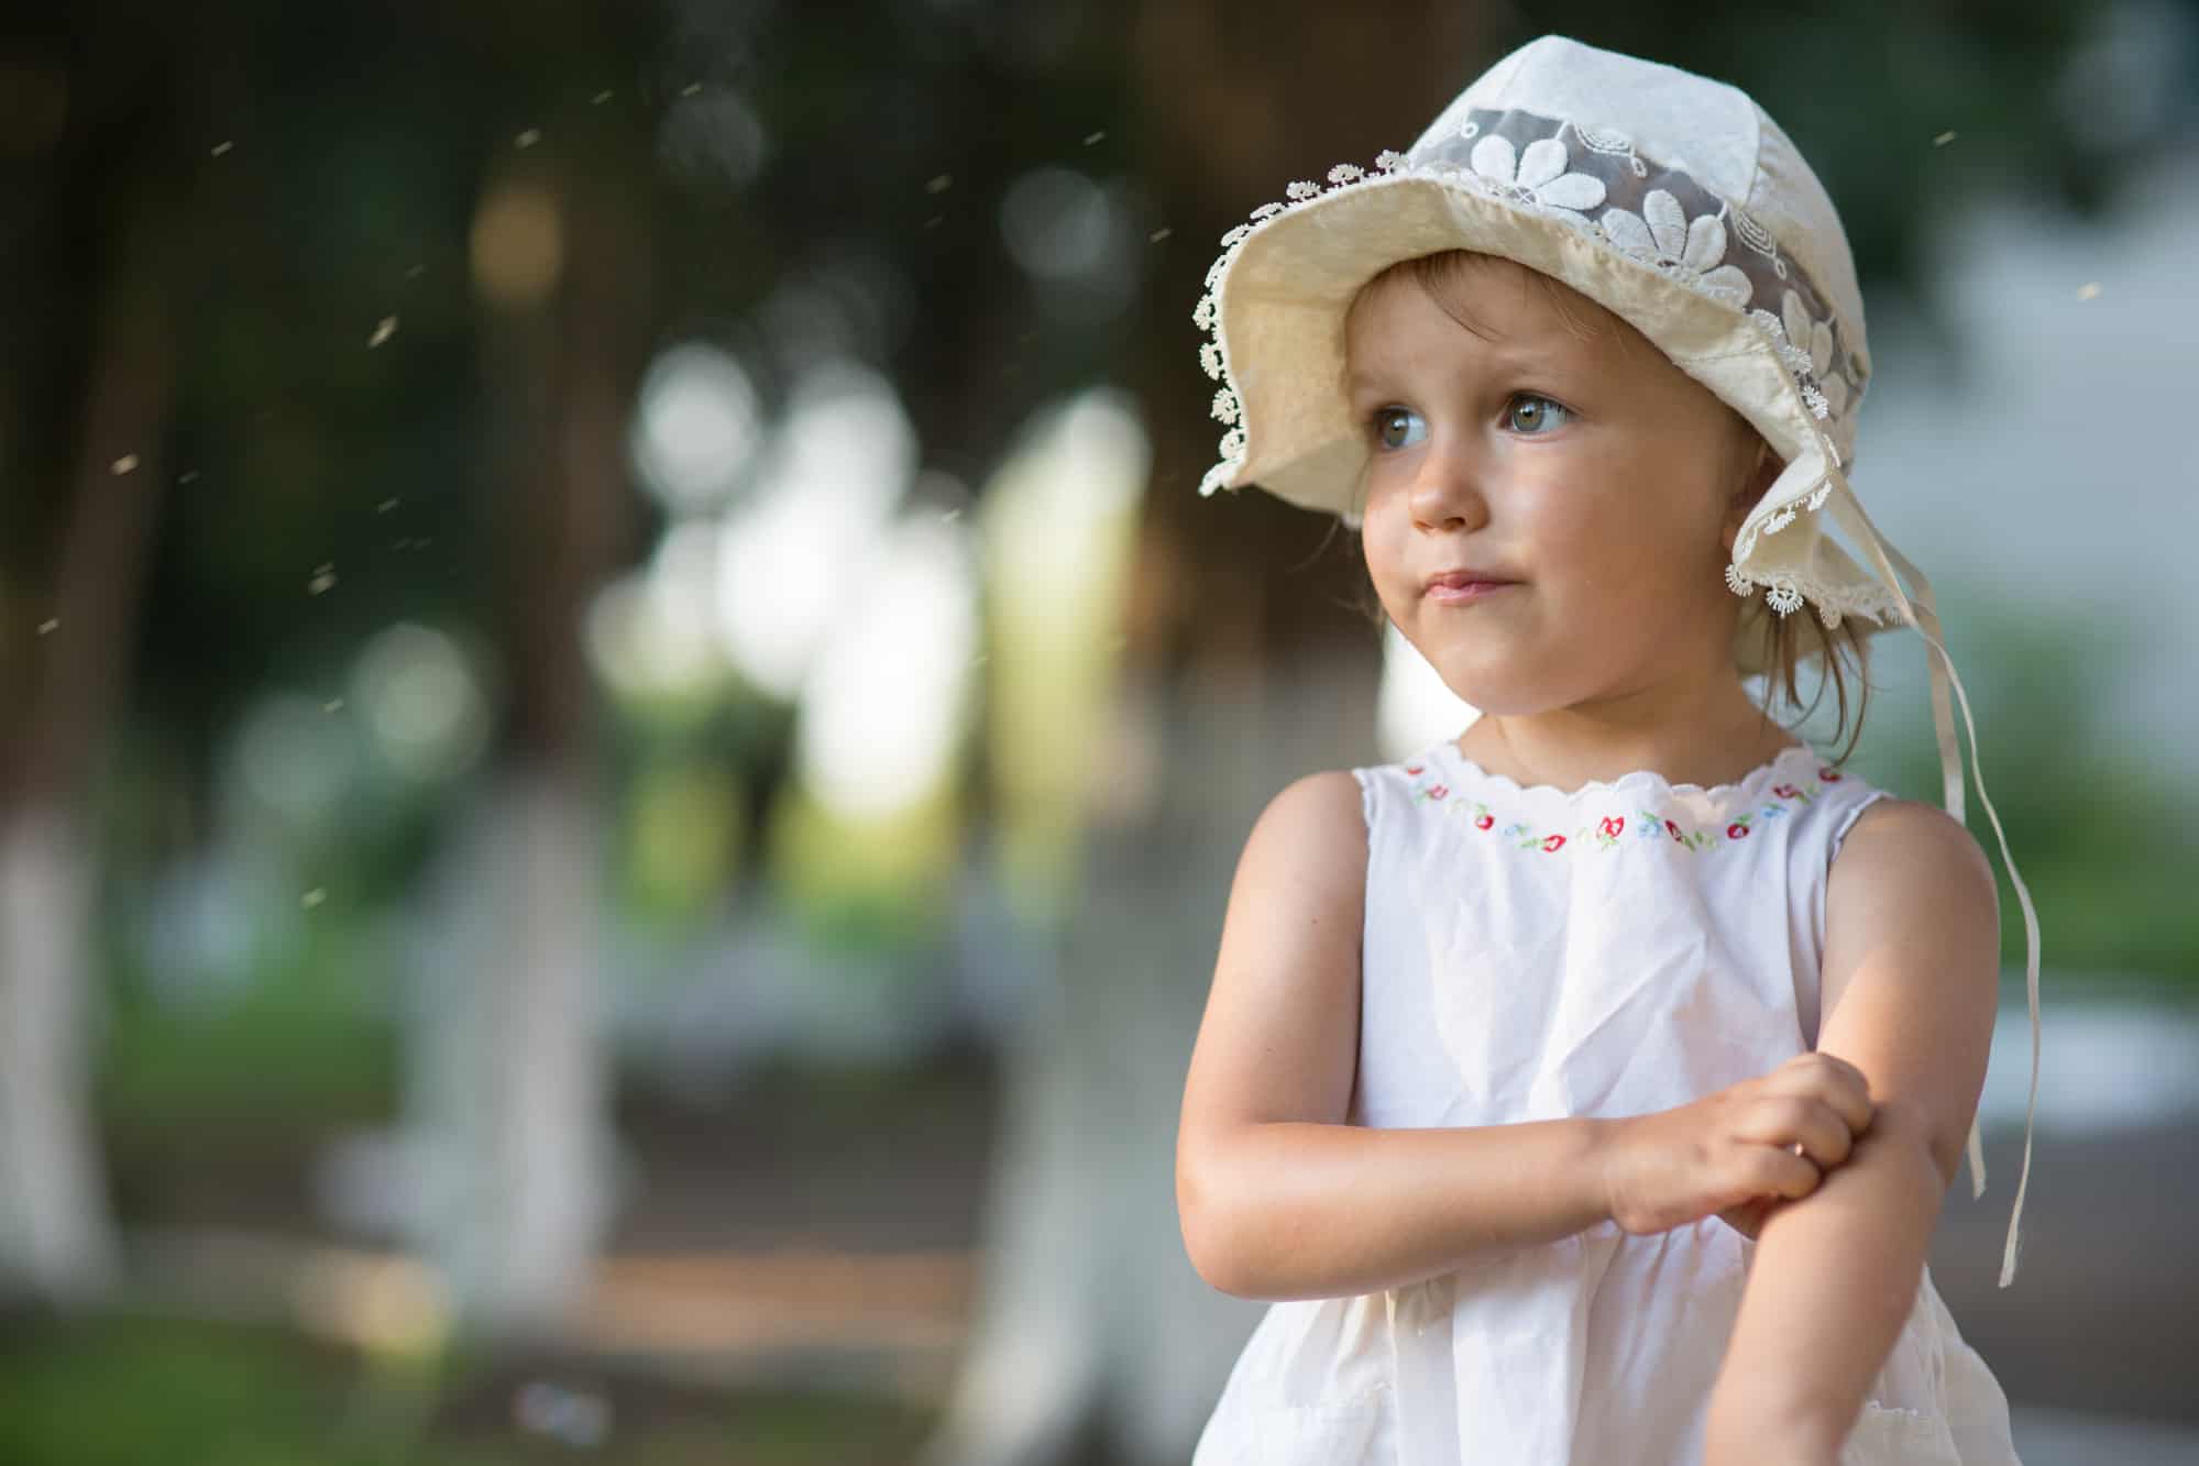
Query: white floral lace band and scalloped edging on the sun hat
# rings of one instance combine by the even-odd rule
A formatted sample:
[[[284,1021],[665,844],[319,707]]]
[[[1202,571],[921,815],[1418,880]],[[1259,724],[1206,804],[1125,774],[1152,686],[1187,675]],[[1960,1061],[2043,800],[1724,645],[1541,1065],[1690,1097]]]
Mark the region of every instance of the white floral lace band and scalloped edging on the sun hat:
[[[1579,152],[1568,145],[1579,147]],[[1748,319],[1770,341],[1794,389],[1819,422],[1847,426],[1869,382],[1869,365],[1849,354],[1838,316],[1825,303],[1825,292],[1799,262],[1779,253],[1772,233],[1731,200],[1700,185],[1684,167],[1654,163],[1634,152],[1623,132],[1579,123],[1570,116],[1535,112],[1493,112],[1476,108],[1451,134],[1423,141],[1410,156],[1381,152],[1374,171],[1355,163],[1328,169],[1335,196],[1346,189],[1381,187],[1396,178],[1427,178],[1465,187],[1484,198],[1524,209],[1636,259],[1667,279],[1713,301],[1746,310]],[[1284,189],[1289,202],[1269,202],[1251,211],[1249,222],[1223,235],[1223,253],[1207,268],[1207,292],[1192,310],[1192,323],[1212,332],[1198,347],[1198,365],[1223,382],[1214,393],[1214,418],[1229,431],[1216,444],[1220,462],[1198,481],[1201,495],[1223,488],[1245,466],[1247,440],[1236,374],[1220,334],[1218,295],[1245,242],[1269,220],[1319,198],[1313,180]],[[1592,213],[1594,211],[1594,213]],[[1770,306],[1777,306],[1772,310]],[[1812,424],[1814,426],[1814,424]],[[1825,459],[1843,464],[1834,437],[1816,429]],[[1799,611],[1805,593],[1790,574],[1742,569],[1757,534],[1777,534],[1794,521],[1797,503],[1816,510],[1832,492],[1827,475],[1805,497],[1790,499],[1766,519],[1748,525],[1735,543],[1726,585],[1735,596],[1753,596],[1766,587],[1766,602],[1779,615]],[[1808,587],[1808,600],[1819,604],[1827,629],[1843,615],[1867,615],[1878,622],[1902,620],[1900,602],[1882,587]]]

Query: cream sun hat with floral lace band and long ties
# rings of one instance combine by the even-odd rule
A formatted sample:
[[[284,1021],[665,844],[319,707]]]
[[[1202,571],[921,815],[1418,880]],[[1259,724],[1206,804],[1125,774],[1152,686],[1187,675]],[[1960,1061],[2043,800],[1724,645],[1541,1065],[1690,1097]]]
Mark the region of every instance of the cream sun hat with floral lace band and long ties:
[[[1223,382],[1214,415],[1229,431],[1198,492],[1256,486],[1359,527],[1368,444],[1344,389],[1352,297],[1418,255],[1515,259],[1632,323],[1764,435],[1786,468],[1742,521],[1726,565],[1726,585],[1748,600],[1733,644],[1739,670],[1770,670],[1766,620],[1803,604],[1827,629],[1856,618],[1867,637],[1915,626],[1929,646],[1944,804],[1964,820],[1951,684],[1973,767],[1977,728],[1931,582],[1878,534],[1847,481],[1871,376],[1854,257],[1832,198],[1779,123],[1724,81],[1541,35],[1469,84],[1405,154],[1383,152],[1372,169],[1341,163],[1328,185],[1293,182],[1286,202],[1253,209],[1207,270],[1192,319],[1214,334],[1201,363]],[[2038,1110],[2038,914],[1981,771],[1977,793],[2030,943],[2032,1095],[2005,1288]],[[1983,1196],[1975,1121],[1968,1156],[1973,1196]]]

